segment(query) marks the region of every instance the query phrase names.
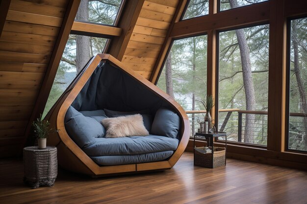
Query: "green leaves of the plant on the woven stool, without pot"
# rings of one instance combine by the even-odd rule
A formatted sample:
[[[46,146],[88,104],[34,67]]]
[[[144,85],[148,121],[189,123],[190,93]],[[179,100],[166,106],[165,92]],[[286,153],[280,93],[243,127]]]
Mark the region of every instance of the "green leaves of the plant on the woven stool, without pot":
[[[32,126],[34,128],[35,136],[38,139],[47,138],[50,133],[58,132],[58,130],[54,130],[50,128],[50,122],[48,120],[42,120],[42,114],[36,120],[33,121]]]

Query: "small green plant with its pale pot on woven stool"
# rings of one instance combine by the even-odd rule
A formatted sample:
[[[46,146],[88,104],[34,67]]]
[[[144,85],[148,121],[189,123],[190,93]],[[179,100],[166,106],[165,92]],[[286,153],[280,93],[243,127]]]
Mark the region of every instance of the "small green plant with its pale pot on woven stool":
[[[48,120],[42,120],[42,114],[40,117],[33,121],[32,126],[34,128],[34,134],[37,138],[38,148],[46,148],[47,137],[52,132],[57,132],[58,130],[51,129]]]

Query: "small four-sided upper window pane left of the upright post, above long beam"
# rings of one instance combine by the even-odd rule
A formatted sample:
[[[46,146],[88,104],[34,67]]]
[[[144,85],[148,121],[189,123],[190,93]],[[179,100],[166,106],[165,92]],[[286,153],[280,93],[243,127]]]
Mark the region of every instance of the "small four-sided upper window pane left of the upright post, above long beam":
[[[205,16],[209,13],[209,0],[190,0],[182,20]]]

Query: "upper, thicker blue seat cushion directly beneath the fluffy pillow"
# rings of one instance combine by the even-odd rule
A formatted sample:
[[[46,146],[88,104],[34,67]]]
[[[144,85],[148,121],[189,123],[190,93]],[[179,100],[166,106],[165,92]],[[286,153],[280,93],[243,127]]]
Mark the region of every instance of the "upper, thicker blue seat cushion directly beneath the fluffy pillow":
[[[166,136],[129,136],[94,138],[94,143],[82,148],[88,156],[140,155],[153,152],[174,151],[179,140]]]

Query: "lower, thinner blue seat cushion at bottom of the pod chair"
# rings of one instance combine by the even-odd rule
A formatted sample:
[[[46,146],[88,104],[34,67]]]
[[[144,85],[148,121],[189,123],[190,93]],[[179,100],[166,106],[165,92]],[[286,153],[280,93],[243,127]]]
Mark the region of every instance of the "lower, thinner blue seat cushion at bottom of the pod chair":
[[[121,165],[131,163],[145,163],[153,161],[161,161],[172,156],[174,151],[154,152],[141,155],[116,155],[116,156],[100,156],[90,157],[99,165]]]

